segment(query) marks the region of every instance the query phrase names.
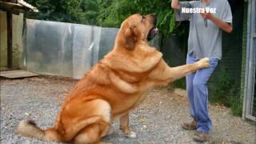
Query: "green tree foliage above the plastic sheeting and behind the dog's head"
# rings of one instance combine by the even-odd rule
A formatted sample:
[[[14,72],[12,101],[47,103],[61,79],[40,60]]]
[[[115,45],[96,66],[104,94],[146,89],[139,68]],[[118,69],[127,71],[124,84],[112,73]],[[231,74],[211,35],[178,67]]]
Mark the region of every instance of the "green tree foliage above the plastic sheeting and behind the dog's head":
[[[88,25],[118,27],[131,14],[158,16],[158,28],[165,36],[177,32],[174,10],[170,0],[27,0],[37,6],[39,14],[30,18],[58,22],[74,22]],[[182,30],[182,29],[180,29]],[[182,34],[179,31],[178,34]]]

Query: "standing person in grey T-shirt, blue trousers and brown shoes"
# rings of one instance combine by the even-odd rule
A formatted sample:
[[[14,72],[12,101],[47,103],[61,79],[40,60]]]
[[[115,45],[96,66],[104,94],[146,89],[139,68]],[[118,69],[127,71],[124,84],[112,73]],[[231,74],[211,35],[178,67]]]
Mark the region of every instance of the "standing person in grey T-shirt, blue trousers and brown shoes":
[[[227,0],[179,2],[172,0],[177,21],[190,21],[186,64],[200,58],[210,58],[210,67],[186,76],[186,90],[190,101],[192,122],[183,122],[182,128],[197,130],[194,141],[206,142],[212,122],[208,114],[207,82],[222,58],[222,30],[233,30],[232,14]]]

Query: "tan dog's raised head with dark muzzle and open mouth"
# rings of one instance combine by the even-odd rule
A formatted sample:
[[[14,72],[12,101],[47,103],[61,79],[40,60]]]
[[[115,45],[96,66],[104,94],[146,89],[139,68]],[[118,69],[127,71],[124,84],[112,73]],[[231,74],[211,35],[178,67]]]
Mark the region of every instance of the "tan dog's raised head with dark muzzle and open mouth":
[[[134,50],[138,42],[148,42],[158,34],[156,24],[157,18],[154,14],[133,14],[122,22],[118,33],[119,42],[121,39],[127,50]]]

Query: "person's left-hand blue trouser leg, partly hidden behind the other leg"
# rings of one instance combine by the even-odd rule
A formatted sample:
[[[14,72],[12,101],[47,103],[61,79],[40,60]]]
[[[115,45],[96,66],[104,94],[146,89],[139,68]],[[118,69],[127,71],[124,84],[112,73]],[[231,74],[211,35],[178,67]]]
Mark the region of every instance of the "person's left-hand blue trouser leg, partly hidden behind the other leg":
[[[186,57],[186,64],[192,64],[197,62],[196,58],[192,58],[189,55]],[[194,90],[193,90],[193,80],[194,80],[195,73],[191,73],[186,75],[186,91],[187,96],[190,101],[190,115],[194,118]]]

